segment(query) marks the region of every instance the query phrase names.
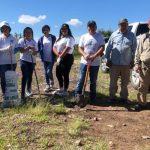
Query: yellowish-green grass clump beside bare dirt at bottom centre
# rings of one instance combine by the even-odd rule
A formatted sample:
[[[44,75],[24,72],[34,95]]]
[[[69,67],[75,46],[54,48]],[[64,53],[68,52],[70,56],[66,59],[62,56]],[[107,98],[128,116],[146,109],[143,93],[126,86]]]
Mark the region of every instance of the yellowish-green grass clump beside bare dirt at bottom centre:
[[[87,129],[89,123],[82,118],[77,118],[72,120],[67,128],[68,134],[70,136],[79,136],[81,135],[82,130]]]

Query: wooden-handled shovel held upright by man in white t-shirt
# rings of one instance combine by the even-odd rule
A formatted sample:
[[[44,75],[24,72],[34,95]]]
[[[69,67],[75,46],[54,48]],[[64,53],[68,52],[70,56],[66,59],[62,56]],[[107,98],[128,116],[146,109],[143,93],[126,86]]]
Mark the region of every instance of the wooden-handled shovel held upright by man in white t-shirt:
[[[87,86],[89,71],[90,71],[90,64],[88,64],[87,68],[86,68],[86,75],[85,75],[85,79],[84,79],[82,95],[77,95],[77,97],[76,97],[77,105],[81,108],[85,107],[86,104],[88,103],[87,99],[85,98],[85,89]]]

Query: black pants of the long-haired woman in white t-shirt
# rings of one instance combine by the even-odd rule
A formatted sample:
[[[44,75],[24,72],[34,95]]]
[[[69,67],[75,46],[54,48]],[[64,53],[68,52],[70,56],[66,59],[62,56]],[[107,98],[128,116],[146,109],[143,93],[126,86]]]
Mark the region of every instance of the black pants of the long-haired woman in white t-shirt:
[[[59,82],[59,86],[60,88],[64,88],[64,90],[67,90],[69,87],[69,73],[73,62],[73,55],[66,54],[60,61],[60,64],[56,66],[56,76]]]

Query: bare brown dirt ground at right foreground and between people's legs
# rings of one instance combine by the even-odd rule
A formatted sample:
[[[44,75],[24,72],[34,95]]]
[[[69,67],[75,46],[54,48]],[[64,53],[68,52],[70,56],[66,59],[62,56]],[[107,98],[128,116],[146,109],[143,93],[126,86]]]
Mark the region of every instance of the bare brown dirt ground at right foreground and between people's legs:
[[[43,93],[45,82],[41,65],[38,65],[36,70],[41,93]],[[21,79],[19,69],[18,74]],[[77,76],[78,67],[76,67],[75,64],[71,71],[70,95],[73,95]],[[108,78],[108,75],[104,76]],[[33,80],[33,91],[36,92],[37,86],[35,78]],[[103,80],[103,82],[105,82],[105,80]],[[58,87],[56,79],[55,86]],[[102,84],[99,88],[106,88],[106,90],[108,90],[107,82]],[[129,91],[133,91],[131,86]],[[110,145],[110,150],[150,150],[150,110],[140,112],[131,111],[130,106],[134,104],[132,100],[130,104],[127,105],[110,105],[108,95],[105,94],[106,93],[98,93],[97,103],[94,105],[87,105],[83,109],[76,107],[71,108],[70,114],[83,116],[90,121],[91,127],[84,134],[94,138],[101,137],[102,139],[106,139]]]

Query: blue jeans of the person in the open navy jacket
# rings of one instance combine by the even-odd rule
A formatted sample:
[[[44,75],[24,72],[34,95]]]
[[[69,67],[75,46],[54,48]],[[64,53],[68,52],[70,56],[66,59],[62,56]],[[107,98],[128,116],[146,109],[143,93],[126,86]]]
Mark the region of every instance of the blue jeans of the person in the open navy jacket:
[[[44,71],[45,71],[45,79],[47,85],[54,85],[54,79],[53,79],[53,62],[43,62],[44,65]]]

